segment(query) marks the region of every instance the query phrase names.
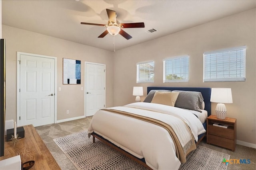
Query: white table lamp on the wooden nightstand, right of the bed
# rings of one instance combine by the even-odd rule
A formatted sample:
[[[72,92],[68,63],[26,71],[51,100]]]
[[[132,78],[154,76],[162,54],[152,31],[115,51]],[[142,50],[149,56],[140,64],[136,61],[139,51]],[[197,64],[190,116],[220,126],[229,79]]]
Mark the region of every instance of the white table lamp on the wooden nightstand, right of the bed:
[[[233,103],[231,88],[212,88],[210,101],[218,103],[215,109],[218,119],[225,119],[227,109],[224,103]]]

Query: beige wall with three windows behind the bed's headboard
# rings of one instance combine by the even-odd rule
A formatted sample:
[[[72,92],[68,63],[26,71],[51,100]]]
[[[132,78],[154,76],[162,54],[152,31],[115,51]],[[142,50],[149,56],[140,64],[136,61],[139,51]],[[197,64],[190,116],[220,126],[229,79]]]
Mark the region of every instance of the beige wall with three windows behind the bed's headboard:
[[[222,18],[115,53],[114,106],[135,101],[133,86],[182,86],[232,88],[233,104],[226,104],[227,117],[237,119],[237,139],[256,144],[256,11]],[[157,33],[157,32],[156,32]],[[150,34],[148,35],[150,36]],[[246,81],[203,82],[203,52],[246,45]],[[163,83],[163,58],[189,55],[189,82]],[[154,60],[154,83],[136,84],[136,63]],[[125,63],[125,64],[124,64]],[[215,114],[216,103],[212,103]]]

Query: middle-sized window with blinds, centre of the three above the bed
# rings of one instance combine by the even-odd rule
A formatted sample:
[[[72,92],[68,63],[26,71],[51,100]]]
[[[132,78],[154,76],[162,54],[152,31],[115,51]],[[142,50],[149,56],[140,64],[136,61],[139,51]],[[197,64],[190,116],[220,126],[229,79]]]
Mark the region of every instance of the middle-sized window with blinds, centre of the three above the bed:
[[[188,55],[164,59],[164,83],[188,82],[188,65]]]

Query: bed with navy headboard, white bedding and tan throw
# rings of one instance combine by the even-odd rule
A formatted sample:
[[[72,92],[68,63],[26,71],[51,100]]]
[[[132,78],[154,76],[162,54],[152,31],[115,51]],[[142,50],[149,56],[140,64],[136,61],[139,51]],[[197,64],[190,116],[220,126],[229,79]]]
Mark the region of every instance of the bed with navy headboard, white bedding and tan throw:
[[[178,169],[206,134],[210,93],[211,88],[148,87],[144,102],[97,111],[89,137],[148,169]]]

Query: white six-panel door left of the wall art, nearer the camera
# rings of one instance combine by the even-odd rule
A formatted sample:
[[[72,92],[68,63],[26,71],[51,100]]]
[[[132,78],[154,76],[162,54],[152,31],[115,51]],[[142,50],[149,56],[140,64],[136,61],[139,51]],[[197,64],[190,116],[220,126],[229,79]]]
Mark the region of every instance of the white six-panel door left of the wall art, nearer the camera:
[[[19,125],[54,123],[55,60],[20,54]]]

